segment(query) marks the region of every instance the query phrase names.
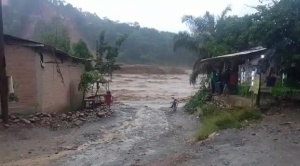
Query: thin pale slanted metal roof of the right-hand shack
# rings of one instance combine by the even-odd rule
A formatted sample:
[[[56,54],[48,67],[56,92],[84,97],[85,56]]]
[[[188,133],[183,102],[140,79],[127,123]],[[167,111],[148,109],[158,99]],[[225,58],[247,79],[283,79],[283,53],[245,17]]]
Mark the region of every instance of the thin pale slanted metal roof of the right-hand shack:
[[[213,57],[213,58],[207,58],[207,59],[203,59],[201,60],[201,62],[207,62],[207,61],[211,61],[211,60],[219,60],[219,59],[226,59],[226,58],[233,58],[233,57],[238,57],[238,56],[243,56],[243,55],[249,55],[249,54],[254,54],[254,53],[260,53],[260,52],[264,52],[267,49],[264,47],[256,47],[247,51],[242,51],[242,52],[237,52],[237,53],[233,53],[233,54],[227,54],[227,55],[222,55],[222,56],[217,56],[217,57]]]

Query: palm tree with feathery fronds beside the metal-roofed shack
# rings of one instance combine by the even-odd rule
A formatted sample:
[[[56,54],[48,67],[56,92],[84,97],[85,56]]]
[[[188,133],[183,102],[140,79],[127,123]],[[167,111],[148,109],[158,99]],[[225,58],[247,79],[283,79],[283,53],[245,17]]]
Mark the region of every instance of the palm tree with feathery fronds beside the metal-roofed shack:
[[[194,52],[198,60],[193,66],[193,72],[190,76],[190,83],[196,84],[197,78],[202,70],[201,60],[216,56],[211,50],[218,32],[218,23],[224,21],[231,7],[227,6],[219,17],[206,12],[203,16],[194,17],[191,15],[183,16],[182,22],[186,23],[190,31],[179,32],[174,37],[174,50],[184,48]]]

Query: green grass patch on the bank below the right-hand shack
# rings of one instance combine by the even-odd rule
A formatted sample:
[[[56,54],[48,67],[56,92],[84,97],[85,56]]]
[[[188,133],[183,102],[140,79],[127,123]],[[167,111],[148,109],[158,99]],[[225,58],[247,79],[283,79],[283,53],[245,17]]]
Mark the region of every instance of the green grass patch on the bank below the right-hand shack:
[[[254,108],[235,110],[220,110],[212,104],[206,104],[197,112],[203,125],[197,132],[197,139],[204,140],[214,132],[229,128],[241,128],[245,122],[253,122],[262,118],[261,113]]]

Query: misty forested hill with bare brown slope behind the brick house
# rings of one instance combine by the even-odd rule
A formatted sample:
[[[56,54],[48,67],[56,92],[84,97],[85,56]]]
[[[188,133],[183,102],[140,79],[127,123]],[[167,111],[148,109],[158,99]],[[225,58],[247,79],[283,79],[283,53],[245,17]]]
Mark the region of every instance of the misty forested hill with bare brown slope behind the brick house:
[[[120,34],[129,34],[120,50],[119,61],[123,63],[186,66],[194,61],[191,53],[173,51],[173,33],[141,28],[137,22],[120,23],[99,18],[63,0],[8,0],[4,1],[3,15],[5,33],[33,40],[40,40],[38,33],[47,26],[55,28],[51,21],[59,18],[71,42],[83,39],[92,52],[103,30],[109,42]]]

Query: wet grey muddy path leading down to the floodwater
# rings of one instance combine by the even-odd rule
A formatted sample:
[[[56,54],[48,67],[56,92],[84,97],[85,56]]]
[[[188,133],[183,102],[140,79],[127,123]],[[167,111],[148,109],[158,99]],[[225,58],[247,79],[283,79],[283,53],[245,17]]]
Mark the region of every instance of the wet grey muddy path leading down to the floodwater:
[[[194,117],[153,103],[131,107],[138,109],[126,122],[51,165],[139,165],[181,153],[191,143],[198,126]]]

